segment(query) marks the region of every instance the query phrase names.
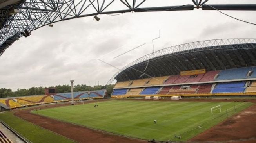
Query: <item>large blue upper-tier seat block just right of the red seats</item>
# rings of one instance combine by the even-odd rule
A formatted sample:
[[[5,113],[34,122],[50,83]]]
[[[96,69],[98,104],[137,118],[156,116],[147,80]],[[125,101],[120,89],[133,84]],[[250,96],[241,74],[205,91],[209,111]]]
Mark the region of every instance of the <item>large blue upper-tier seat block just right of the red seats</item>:
[[[246,79],[249,70],[251,70],[251,68],[221,70],[215,80]]]

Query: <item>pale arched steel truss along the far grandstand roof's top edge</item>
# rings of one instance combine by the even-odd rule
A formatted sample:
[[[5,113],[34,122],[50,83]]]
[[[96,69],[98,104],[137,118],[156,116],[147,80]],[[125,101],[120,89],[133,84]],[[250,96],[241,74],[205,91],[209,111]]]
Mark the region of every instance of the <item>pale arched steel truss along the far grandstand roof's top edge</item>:
[[[143,57],[136,59],[132,63],[127,64],[120,71],[114,74],[113,77],[107,82],[107,84],[113,83],[116,76],[120,74],[122,71],[133,70],[135,67],[133,67],[133,69],[130,69],[130,67],[151,59],[160,59],[160,58],[171,56],[171,55],[192,53],[192,52],[200,51],[201,49],[212,50],[216,47],[222,48],[222,49],[233,48],[234,50],[251,49],[251,48],[256,49],[255,43],[256,43],[256,39],[214,39],[214,40],[196,41],[196,42],[171,46],[171,47],[164,48],[162,50],[158,50],[153,53],[147,54]]]

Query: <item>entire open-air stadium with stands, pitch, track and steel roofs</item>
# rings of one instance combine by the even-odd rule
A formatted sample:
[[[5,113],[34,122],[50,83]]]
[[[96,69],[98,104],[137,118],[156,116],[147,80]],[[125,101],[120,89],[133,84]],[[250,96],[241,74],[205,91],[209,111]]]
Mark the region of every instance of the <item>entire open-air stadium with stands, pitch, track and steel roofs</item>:
[[[99,2],[98,6],[93,5],[94,1],[90,1],[89,5],[82,5],[82,1],[63,1],[71,11],[75,6],[70,5],[82,5],[79,14],[74,14],[75,16],[67,10],[67,17],[58,15],[64,13],[63,9],[61,12],[58,9],[60,13],[56,12],[57,9],[47,9],[46,7],[54,7],[55,4],[49,6],[49,1],[44,2],[47,5],[45,7],[39,5],[29,8],[23,7],[25,5],[21,1],[11,2],[20,12],[26,9],[31,10],[26,11],[30,14],[32,11],[46,11],[50,14],[44,15],[49,16],[44,19],[47,21],[44,24],[31,20],[31,27],[25,27],[26,29],[20,26],[6,32],[6,28],[10,27],[1,27],[0,55],[18,38],[31,35],[29,32],[37,28],[77,17],[145,12],[149,9],[192,10],[194,7],[205,10],[214,10],[214,7],[255,10],[255,5],[213,5],[212,8],[203,5],[207,0],[200,0],[199,3],[192,0],[194,5],[147,8],[139,7],[145,0],[137,6],[136,0],[133,0],[132,6],[126,0],[120,1],[131,9],[105,12],[105,0],[101,8]],[[34,5],[41,4],[39,1],[30,2],[34,2]],[[4,0],[0,3],[0,6],[5,5],[3,7],[7,9],[6,13],[17,12],[9,9],[10,4],[6,3]],[[90,5],[96,10],[98,7],[97,13],[82,15],[81,9]],[[20,12],[16,14],[22,14]],[[19,18],[21,20],[23,17]],[[97,17],[95,19],[99,20]],[[11,21],[9,16],[5,20]],[[5,24],[7,21],[1,22]],[[59,93],[53,87],[45,88],[44,95],[0,98],[0,142],[256,142],[254,38],[195,41],[144,55],[113,73],[107,83],[114,83],[110,95],[107,95],[106,89],[74,92],[74,80],[70,82],[71,92]]]

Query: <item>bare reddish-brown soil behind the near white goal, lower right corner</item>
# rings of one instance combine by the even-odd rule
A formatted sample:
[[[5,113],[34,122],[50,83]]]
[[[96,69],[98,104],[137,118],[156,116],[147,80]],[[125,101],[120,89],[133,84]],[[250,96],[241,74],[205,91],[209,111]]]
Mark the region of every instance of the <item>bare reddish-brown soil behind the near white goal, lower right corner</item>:
[[[256,105],[252,105],[189,141],[229,141],[249,138],[254,139],[238,142],[256,143]]]

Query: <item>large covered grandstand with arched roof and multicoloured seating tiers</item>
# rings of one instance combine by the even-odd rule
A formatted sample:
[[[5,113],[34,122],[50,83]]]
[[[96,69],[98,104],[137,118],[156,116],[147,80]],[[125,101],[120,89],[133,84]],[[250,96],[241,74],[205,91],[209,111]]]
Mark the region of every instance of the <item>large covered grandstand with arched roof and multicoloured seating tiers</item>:
[[[255,55],[256,39],[218,39],[165,48],[118,71],[110,80],[117,80],[112,97],[256,95]],[[152,68],[156,66],[161,68]]]

